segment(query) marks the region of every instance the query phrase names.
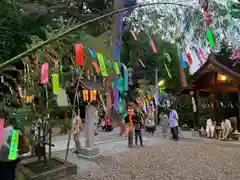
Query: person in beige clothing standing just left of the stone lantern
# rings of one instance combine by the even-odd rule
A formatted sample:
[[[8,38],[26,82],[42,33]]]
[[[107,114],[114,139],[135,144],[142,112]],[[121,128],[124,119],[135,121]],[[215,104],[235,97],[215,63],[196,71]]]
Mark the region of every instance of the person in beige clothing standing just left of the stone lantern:
[[[82,127],[82,120],[81,118],[74,112],[74,118],[72,122],[72,135],[73,135],[73,140],[76,145],[76,150],[73,151],[73,153],[79,154],[80,153],[80,148],[81,148],[81,143],[79,141],[80,138],[80,133],[83,130]]]

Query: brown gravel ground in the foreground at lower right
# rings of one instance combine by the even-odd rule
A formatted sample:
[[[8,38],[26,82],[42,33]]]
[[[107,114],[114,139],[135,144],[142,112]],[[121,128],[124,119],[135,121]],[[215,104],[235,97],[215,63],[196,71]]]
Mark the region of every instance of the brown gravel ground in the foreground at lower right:
[[[240,180],[239,148],[171,141],[102,157],[100,168],[66,180]]]

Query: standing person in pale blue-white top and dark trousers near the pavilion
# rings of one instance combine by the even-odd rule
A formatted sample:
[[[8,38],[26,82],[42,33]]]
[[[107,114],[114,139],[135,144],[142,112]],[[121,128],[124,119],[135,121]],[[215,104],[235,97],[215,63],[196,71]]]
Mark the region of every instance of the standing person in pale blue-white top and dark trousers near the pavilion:
[[[170,109],[170,114],[169,114],[169,126],[172,134],[172,139],[174,141],[178,141],[178,114],[177,111],[175,110],[174,106]]]

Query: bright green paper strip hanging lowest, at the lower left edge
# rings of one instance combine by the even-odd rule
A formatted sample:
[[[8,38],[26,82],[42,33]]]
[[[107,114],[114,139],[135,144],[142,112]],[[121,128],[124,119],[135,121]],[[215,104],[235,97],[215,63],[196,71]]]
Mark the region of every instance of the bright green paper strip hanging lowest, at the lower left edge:
[[[12,132],[11,146],[10,146],[10,151],[8,154],[9,160],[17,159],[19,133],[20,133],[19,130],[13,130],[13,132]]]

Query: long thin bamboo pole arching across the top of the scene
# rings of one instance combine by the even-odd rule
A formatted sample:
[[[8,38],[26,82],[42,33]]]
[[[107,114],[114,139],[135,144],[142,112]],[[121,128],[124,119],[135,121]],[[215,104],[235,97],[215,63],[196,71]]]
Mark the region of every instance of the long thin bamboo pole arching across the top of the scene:
[[[88,24],[91,24],[91,23],[95,22],[95,21],[104,19],[106,17],[112,16],[112,15],[115,15],[115,14],[118,14],[118,13],[121,13],[121,12],[125,12],[125,11],[128,11],[128,10],[131,10],[131,9],[142,8],[142,7],[146,7],[146,6],[154,6],[154,5],[173,5],[173,6],[181,6],[181,7],[195,9],[192,6],[184,5],[184,4],[180,4],[180,3],[163,3],[163,2],[139,4],[139,5],[132,6],[132,7],[127,7],[127,8],[123,8],[123,9],[117,9],[117,10],[112,11],[110,13],[104,14],[104,15],[99,16],[97,18],[94,18],[94,19],[91,19],[91,20],[86,21],[84,23],[81,23],[79,25],[76,25],[75,27],[70,28],[70,29],[66,30],[65,32],[63,32],[63,33],[60,33],[60,34],[56,35],[55,37],[52,37],[52,38],[50,38],[50,39],[48,39],[48,40],[46,40],[46,41],[44,41],[42,43],[39,43],[38,45],[32,47],[31,49],[28,49],[27,51],[25,51],[25,52],[15,56],[15,57],[9,59],[9,60],[3,62],[2,64],[0,64],[0,69],[5,68],[5,67],[7,67],[9,65],[12,65],[12,64],[14,64],[14,63],[16,63],[18,61],[21,61],[21,58],[23,58],[24,56],[27,56],[27,55],[37,51],[38,49],[40,49],[40,48],[42,48],[42,47],[44,47],[44,46],[46,46],[46,45],[48,45],[48,44],[50,44],[50,43],[52,43],[54,41],[59,40],[63,36],[66,36],[66,35],[74,32],[74,31],[76,31],[76,30],[78,30],[78,29],[80,29],[80,28],[82,28],[82,27],[84,27],[84,26],[86,26]]]

